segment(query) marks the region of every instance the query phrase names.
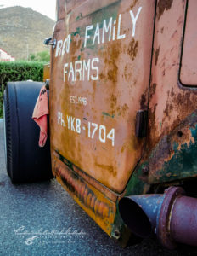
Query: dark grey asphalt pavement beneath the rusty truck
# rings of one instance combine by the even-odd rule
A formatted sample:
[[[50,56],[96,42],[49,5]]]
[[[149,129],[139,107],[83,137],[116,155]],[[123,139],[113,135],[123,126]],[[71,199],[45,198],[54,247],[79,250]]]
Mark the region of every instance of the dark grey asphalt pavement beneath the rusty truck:
[[[55,179],[13,185],[4,160],[0,119],[0,256],[9,255],[193,255],[168,251],[154,237],[121,248],[82,211]]]

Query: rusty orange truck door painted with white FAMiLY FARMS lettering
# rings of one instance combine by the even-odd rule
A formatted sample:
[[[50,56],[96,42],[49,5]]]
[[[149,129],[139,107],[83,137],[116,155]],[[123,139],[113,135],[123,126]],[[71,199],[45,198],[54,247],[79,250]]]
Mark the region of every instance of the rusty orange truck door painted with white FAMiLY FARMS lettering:
[[[148,108],[155,0],[59,6],[65,9],[53,33],[52,156],[121,193],[144,148],[136,117]]]

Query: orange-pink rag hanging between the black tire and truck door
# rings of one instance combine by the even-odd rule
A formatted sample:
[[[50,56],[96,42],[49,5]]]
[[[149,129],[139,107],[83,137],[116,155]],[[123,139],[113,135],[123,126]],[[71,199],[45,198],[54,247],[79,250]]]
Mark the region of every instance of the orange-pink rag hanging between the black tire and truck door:
[[[40,138],[38,143],[40,147],[44,147],[48,138],[48,113],[48,92],[45,85],[43,85],[32,115],[32,119],[34,119],[40,127]]]

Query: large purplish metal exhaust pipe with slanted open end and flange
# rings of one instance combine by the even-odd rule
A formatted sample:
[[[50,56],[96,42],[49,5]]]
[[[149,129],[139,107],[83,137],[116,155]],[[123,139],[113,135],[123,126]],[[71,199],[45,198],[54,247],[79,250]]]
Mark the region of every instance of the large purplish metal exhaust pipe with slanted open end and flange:
[[[184,194],[182,188],[170,187],[164,194],[123,197],[119,212],[136,236],[145,238],[154,231],[168,249],[177,243],[197,246],[197,199]]]

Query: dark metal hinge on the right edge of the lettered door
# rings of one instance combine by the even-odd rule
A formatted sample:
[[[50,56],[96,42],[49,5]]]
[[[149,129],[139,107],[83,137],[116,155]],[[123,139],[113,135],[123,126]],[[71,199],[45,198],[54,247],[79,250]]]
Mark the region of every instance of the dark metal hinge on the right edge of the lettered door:
[[[136,114],[136,136],[146,137],[148,110],[138,110]]]

